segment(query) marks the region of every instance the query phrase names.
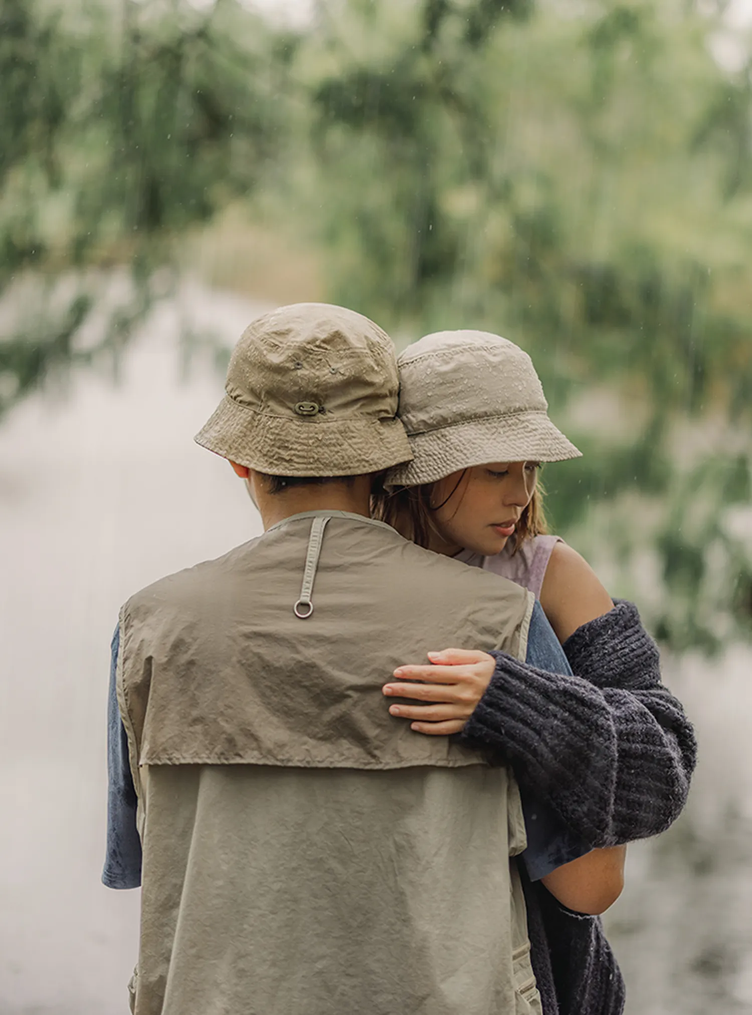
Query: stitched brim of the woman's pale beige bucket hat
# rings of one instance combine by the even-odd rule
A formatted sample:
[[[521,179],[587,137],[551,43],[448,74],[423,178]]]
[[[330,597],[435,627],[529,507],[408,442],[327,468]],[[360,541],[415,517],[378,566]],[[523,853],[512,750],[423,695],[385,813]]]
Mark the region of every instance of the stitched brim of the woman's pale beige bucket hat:
[[[582,458],[545,411],[516,412],[410,436],[412,462],[387,474],[388,489],[420,486],[488,462],[564,462]]]

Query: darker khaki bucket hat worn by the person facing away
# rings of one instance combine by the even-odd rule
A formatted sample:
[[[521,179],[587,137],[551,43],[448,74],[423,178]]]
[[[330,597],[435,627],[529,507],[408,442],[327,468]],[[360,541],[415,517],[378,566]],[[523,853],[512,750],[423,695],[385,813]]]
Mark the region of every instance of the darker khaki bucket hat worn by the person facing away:
[[[196,442],[277,476],[354,476],[412,458],[397,415],[389,335],[329,303],[258,318],[227,368],[225,396]]]

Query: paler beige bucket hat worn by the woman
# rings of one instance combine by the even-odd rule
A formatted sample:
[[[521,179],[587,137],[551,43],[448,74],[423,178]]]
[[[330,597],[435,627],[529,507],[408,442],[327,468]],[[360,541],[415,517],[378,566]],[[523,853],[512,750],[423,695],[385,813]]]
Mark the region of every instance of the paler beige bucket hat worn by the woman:
[[[406,349],[399,416],[413,460],[388,488],[432,483],[486,462],[562,462],[580,452],[548,418],[527,352],[485,331],[440,331]]]

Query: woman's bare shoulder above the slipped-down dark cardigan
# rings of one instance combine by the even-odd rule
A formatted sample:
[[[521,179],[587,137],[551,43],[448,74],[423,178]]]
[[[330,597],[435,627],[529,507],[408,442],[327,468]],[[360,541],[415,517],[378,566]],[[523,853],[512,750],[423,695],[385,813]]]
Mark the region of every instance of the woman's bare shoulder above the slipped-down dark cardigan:
[[[614,608],[591,565],[566,543],[556,543],[541,589],[541,606],[559,641]]]

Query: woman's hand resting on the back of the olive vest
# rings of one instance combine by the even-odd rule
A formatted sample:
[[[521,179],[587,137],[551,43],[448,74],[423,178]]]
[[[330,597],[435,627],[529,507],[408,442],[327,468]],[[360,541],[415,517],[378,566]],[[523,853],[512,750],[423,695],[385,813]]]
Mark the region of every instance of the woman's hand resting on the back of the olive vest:
[[[389,710],[399,719],[415,720],[410,729],[417,733],[434,737],[460,733],[488,687],[496,661],[488,653],[464,649],[429,652],[428,659],[428,666],[400,666],[394,671],[398,683],[385,684],[383,690],[387,696],[432,703],[400,702]]]

